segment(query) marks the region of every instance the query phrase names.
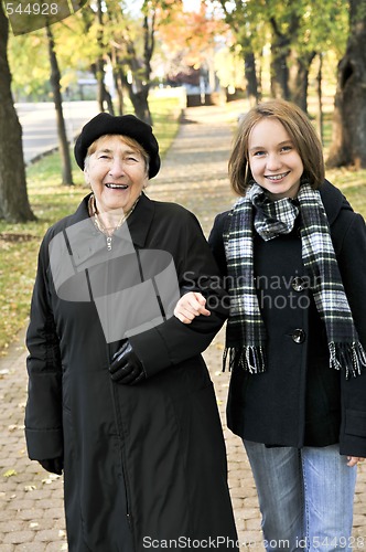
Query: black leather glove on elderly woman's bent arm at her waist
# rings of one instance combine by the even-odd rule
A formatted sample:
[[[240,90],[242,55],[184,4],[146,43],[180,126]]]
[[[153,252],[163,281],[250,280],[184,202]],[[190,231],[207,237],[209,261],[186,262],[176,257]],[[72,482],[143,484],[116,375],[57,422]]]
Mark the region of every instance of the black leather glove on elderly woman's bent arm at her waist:
[[[111,379],[122,385],[134,385],[147,376],[142,363],[128,340],[114,354],[109,372]]]

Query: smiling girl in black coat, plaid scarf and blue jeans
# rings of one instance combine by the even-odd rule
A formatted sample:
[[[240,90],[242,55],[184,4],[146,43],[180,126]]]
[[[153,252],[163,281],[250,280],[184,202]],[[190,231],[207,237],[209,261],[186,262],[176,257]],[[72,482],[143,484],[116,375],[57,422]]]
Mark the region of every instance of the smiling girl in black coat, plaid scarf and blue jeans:
[[[246,115],[229,178],[240,198],[209,244],[230,297],[227,423],[251,465],[266,549],[351,550],[366,457],[365,222],[324,180],[313,126],[284,100]],[[175,309],[185,323],[208,314],[198,293]]]

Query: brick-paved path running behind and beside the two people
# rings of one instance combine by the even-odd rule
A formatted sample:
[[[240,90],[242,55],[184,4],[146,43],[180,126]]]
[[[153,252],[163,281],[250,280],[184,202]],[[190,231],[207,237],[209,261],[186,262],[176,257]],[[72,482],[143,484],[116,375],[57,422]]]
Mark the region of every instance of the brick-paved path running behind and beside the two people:
[[[176,201],[191,209],[206,234],[215,213],[233,201],[226,173],[232,140],[229,124],[235,123],[238,113],[229,115],[226,106],[186,110],[185,120],[163,161],[163,169],[148,190],[153,199]],[[37,463],[26,458],[23,342],[24,333],[10,347],[9,354],[0,358],[0,552],[65,551],[62,478],[47,474]],[[224,425],[237,529],[243,551],[261,552],[260,516],[248,461],[240,439],[225,425],[229,375],[220,371],[223,347],[222,331],[205,352],[205,358]],[[366,469],[362,466],[355,499],[355,550],[366,549],[365,482]]]

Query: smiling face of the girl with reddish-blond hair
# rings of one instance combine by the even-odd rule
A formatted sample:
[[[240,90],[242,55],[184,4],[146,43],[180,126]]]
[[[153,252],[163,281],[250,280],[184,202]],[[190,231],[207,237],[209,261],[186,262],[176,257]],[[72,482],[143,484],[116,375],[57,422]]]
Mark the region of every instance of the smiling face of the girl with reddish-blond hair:
[[[248,162],[254,180],[270,199],[295,198],[303,163],[284,126],[266,117],[252,127],[248,140]]]

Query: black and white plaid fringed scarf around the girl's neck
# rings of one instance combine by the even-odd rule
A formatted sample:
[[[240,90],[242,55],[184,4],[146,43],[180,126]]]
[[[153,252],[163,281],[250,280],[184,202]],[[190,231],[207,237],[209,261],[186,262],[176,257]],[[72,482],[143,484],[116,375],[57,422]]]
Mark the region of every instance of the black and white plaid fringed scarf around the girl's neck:
[[[290,233],[299,213],[302,261],[317,312],[325,325],[330,367],[344,370],[346,378],[355,376],[366,367],[366,353],[344,291],[321,195],[306,182],[301,184],[297,200],[286,198],[274,202],[255,183],[229,213],[224,231],[232,282],[224,369],[229,355],[230,369],[240,365],[250,373],[266,370],[267,336],[254,277],[254,229],[263,240],[272,240],[281,233]]]

